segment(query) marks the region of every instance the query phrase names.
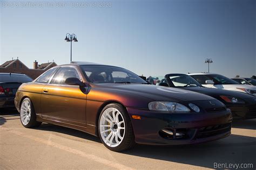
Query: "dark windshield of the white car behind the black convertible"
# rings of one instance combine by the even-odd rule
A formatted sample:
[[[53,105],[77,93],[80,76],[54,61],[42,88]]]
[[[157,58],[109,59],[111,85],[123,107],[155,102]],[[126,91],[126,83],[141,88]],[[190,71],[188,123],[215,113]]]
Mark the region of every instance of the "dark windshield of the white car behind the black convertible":
[[[201,74],[201,75],[192,75],[201,84],[206,84],[206,80],[212,80],[214,84],[239,84],[237,81],[229,79],[225,76],[219,74]]]

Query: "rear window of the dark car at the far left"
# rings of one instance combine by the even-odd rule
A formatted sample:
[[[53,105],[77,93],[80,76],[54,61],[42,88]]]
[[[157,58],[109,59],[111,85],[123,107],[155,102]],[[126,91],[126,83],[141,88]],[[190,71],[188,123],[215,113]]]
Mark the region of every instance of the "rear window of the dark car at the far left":
[[[0,75],[0,82],[19,82],[26,83],[33,81],[29,76],[26,75],[15,75],[15,74],[4,74]]]

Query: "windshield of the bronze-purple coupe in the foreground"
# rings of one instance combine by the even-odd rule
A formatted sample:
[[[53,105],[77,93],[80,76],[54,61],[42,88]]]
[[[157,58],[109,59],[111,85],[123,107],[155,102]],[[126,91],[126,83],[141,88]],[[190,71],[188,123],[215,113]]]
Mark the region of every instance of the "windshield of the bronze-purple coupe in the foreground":
[[[114,66],[82,65],[80,66],[91,83],[135,83],[147,84],[133,72]]]

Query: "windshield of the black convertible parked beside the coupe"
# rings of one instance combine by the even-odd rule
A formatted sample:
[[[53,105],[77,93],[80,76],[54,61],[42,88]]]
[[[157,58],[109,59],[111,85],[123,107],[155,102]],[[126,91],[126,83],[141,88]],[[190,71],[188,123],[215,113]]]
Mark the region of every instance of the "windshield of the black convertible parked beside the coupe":
[[[201,86],[192,77],[184,74],[171,74],[169,78],[172,81],[173,85],[176,87]]]

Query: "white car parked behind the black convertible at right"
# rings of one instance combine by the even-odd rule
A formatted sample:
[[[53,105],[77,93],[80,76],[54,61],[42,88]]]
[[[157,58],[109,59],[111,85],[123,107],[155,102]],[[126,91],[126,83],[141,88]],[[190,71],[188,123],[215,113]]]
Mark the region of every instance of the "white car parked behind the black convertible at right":
[[[233,90],[248,93],[256,97],[256,87],[251,85],[239,84],[230,78],[214,73],[190,73],[187,74],[196,79],[205,87]]]

